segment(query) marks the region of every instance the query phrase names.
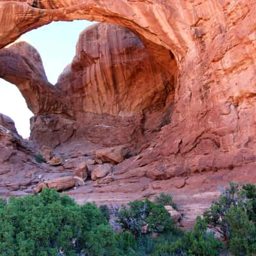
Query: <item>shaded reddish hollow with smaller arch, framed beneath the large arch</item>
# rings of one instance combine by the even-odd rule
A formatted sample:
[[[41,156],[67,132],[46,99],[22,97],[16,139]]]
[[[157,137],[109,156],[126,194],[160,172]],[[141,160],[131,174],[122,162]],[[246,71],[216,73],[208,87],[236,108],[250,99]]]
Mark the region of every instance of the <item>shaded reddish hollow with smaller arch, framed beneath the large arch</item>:
[[[0,51],[0,77],[31,109],[30,139],[57,147],[86,140],[135,151],[170,122],[178,67],[172,52],[138,32],[97,23],[79,36],[76,56],[52,85],[26,42]]]

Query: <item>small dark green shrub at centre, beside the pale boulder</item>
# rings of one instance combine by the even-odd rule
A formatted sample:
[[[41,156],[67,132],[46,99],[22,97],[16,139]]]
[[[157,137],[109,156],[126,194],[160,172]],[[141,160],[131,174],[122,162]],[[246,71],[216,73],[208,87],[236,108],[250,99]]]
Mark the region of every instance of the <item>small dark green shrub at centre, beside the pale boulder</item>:
[[[163,205],[154,204],[148,199],[145,202],[131,202],[129,208],[123,206],[117,217],[122,228],[137,237],[143,234],[161,234],[175,229],[174,222]]]

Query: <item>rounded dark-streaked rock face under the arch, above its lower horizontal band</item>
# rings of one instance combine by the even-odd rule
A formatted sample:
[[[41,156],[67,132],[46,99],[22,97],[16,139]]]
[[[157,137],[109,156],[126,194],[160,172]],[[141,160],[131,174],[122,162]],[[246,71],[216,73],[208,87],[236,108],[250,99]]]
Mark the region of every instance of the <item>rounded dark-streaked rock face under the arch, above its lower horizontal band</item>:
[[[76,56],[57,87],[68,95],[76,115],[133,116],[163,108],[173,90],[175,70],[168,72],[129,29],[95,24],[79,36]]]

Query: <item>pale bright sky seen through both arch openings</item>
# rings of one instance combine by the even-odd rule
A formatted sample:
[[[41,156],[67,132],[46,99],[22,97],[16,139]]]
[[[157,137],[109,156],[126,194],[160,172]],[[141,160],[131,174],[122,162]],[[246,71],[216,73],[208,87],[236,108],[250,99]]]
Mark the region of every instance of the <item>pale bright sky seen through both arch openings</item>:
[[[20,40],[29,42],[40,53],[45,72],[50,83],[55,84],[63,69],[76,54],[79,34],[92,22],[74,20],[73,22],[52,22],[46,26],[29,31]],[[0,79],[0,113],[10,116],[17,131],[23,138],[30,134],[29,111],[26,101],[14,84]]]

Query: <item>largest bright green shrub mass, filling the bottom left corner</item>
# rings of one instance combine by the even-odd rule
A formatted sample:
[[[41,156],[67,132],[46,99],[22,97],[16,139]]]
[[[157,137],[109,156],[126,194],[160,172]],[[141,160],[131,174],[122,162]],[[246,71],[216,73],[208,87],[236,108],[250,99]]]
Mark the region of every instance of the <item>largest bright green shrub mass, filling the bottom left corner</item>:
[[[44,189],[0,206],[1,256],[72,256],[88,250],[112,256],[115,248],[113,230],[93,204],[80,207],[67,195]]]

